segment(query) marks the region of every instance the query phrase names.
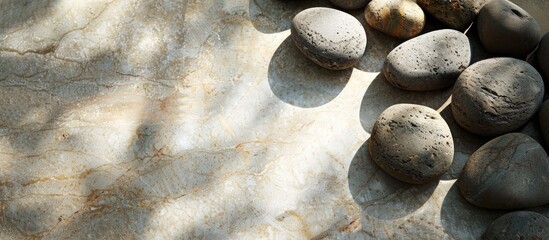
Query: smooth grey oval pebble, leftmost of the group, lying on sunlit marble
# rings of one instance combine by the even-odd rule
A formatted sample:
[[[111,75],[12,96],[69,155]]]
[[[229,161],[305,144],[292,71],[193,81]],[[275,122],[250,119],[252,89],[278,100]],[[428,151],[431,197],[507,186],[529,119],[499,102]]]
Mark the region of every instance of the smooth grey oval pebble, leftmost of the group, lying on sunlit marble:
[[[292,40],[316,64],[341,70],[355,65],[366,50],[364,27],[353,16],[331,8],[309,8],[292,20]]]

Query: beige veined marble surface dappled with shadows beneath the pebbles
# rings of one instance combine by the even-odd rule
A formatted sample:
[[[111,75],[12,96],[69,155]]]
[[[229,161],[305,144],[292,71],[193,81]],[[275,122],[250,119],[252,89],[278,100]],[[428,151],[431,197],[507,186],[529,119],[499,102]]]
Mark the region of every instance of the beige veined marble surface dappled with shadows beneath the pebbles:
[[[388,85],[399,42],[368,27],[356,68],[306,60],[290,20],[326,5],[0,1],[0,239],[480,236],[504,212],[454,183],[486,140],[455,125],[449,89]],[[406,185],[369,159],[372,124],[401,102],[452,126],[440,182]]]

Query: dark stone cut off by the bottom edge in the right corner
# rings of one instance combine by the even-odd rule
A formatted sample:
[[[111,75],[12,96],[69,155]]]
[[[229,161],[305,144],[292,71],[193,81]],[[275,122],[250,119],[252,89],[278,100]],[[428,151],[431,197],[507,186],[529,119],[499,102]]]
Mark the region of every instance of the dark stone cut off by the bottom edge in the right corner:
[[[549,239],[549,218],[530,211],[507,213],[492,222],[482,239]]]

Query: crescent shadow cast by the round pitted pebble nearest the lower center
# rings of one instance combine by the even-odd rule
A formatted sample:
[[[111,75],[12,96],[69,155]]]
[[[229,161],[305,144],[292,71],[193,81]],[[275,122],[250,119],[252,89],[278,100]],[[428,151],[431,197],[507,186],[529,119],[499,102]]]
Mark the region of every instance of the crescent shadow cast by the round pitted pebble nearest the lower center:
[[[363,212],[383,220],[402,218],[421,208],[438,183],[413,185],[391,177],[371,159],[368,141],[355,154],[348,180],[353,200]]]

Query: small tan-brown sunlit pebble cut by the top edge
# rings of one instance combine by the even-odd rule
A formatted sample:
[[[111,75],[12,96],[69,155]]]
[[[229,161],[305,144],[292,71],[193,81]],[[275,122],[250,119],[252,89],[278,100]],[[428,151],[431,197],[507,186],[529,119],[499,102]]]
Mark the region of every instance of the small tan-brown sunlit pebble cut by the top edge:
[[[372,0],[364,16],[371,27],[402,39],[417,36],[425,26],[423,10],[410,0]]]

